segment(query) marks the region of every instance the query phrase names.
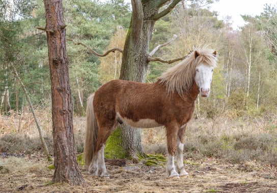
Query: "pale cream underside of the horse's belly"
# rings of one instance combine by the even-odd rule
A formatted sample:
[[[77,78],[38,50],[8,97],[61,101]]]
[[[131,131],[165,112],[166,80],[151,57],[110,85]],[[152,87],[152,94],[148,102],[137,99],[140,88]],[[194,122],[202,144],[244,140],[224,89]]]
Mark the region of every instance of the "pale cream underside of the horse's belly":
[[[118,117],[125,124],[134,126],[134,127],[151,128],[151,127],[161,126],[161,124],[157,123],[154,119],[140,119],[138,121],[133,121],[132,119],[128,119],[126,117],[125,118],[121,116],[118,116]]]

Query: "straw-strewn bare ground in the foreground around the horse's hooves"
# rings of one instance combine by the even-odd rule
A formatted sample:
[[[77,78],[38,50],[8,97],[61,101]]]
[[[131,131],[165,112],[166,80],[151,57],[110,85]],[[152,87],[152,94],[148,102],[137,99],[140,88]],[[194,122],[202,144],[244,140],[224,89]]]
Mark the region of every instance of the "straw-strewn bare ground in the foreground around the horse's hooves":
[[[233,165],[217,159],[187,160],[187,177],[168,179],[165,168],[107,165],[110,179],[89,175],[88,186],[51,184],[53,170],[38,155],[0,155],[0,192],[277,192],[277,169],[256,163]]]

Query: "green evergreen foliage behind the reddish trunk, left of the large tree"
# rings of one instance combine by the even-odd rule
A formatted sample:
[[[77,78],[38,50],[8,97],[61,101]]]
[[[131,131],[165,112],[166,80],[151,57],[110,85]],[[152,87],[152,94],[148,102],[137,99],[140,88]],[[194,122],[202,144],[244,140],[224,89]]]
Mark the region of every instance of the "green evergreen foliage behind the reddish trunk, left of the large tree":
[[[99,53],[104,52],[117,26],[129,25],[131,13],[129,5],[123,0],[106,3],[72,0],[64,2],[63,6],[67,39],[80,41]],[[32,103],[49,106],[51,88],[47,37],[44,31],[36,29],[46,25],[43,1],[17,1],[13,14],[9,16],[8,7],[9,1],[2,0],[0,3],[1,94],[8,86],[11,108],[15,109],[16,93],[18,93],[18,108],[21,109],[26,105],[24,93],[18,84],[14,84],[10,69],[13,64],[16,65],[20,78],[26,84]],[[85,103],[88,95],[100,86],[98,76],[100,60],[87,48],[74,45],[70,41],[67,42],[67,54],[74,110],[82,115],[84,107],[80,107],[79,97]]]

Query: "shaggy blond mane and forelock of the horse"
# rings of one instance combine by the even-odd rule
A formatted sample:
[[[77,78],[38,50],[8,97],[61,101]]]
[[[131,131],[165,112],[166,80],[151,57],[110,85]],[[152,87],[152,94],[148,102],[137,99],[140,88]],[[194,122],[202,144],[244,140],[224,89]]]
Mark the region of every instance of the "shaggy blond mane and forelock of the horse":
[[[191,90],[195,81],[196,67],[201,63],[216,67],[216,52],[211,49],[195,49],[178,65],[168,69],[157,81],[167,87],[169,93],[178,92],[180,96]]]

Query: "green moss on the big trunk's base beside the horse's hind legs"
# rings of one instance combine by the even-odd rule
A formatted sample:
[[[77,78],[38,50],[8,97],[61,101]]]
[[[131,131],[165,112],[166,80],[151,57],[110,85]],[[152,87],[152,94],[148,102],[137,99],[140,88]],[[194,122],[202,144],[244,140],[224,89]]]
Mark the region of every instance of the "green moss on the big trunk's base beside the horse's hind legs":
[[[121,129],[118,127],[107,140],[105,147],[105,157],[109,159],[126,158],[127,154],[121,144]]]

